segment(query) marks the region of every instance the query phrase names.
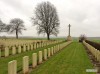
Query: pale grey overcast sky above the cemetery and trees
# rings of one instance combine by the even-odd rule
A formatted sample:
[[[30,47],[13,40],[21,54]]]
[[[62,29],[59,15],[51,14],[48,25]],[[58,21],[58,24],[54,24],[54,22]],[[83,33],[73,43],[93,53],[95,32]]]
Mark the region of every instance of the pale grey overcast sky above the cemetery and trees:
[[[32,26],[31,17],[36,5],[42,1],[49,1],[57,8],[60,19],[58,36],[68,35],[69,23],[73,37],[80,34],[100,36],[100,0],[0,0],[0,18],[6,24],[12,18],[21,18],[27,30],[20,36],[38,36],[36,27]],[[13,35],[15,34],[11,36]]]

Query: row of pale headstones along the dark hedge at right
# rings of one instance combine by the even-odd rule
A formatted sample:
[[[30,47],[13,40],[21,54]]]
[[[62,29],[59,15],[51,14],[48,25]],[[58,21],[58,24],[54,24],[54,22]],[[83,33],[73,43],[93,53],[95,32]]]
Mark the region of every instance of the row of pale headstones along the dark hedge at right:
[[[90,44],[86,43],[85,41],[83,41],[83,44],[89,49],[89,51],[96,58],[96,60],[100,62],[100,51],[91,46]]]

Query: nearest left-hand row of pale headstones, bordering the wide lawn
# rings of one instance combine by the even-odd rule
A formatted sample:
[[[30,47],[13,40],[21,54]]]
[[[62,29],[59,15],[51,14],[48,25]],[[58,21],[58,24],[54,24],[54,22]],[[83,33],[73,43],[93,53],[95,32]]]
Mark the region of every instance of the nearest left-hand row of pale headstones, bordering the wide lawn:
[[[65,46],[70,44],[71,41],[65,42],[62,44],[55,45],[51,48],[44,49],[43,51],[39,51],[38,53],[32,54],[32,67],[35,68],[37,65],[43,63],[43,60],[47,60],[50,58],[50,56],[54,55],[61,49],[63,49]],[[22,67],[23,74],[29,73],[29,56],[23,57],[23,67]],[[8,63],[8,74],[17,74],[17,61],[13,60]]]

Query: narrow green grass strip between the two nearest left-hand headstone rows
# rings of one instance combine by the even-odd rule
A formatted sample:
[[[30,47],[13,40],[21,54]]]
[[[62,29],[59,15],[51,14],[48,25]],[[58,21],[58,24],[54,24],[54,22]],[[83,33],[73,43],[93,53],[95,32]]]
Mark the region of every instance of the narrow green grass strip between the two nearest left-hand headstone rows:
[[[61,43],[63,43],[63,42],[61,42]],[[57,44],[60,44],[60,43],[57,43]],[[42,48],[38,48],[36,50],[30,50],[27,52],[23,52],[21,54],[12,55],[12,56],[9,56],[6,58],[0,58],[0,74],[8,74],[8,62],[10,62],[12,60],[17,60],[17,70],[21,71],[22,70],[22,58],[24,56],[29,56],[29,62],[30,62],[30,64],[32,64],[32,54],[33,53],[35,53],[35,52],[38,53],[38,51],[52,47],[54,45],[56,45],[56,44],[48,45],[48,46],[45,46]]]

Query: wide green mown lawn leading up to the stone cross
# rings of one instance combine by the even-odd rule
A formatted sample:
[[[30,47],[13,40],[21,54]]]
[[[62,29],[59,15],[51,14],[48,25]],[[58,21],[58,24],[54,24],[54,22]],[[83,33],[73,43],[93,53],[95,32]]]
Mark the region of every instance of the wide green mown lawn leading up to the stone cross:
[[[73,42],[30,74],[96,74],[88,73],[86,69],[94,69],[84,46]]]

